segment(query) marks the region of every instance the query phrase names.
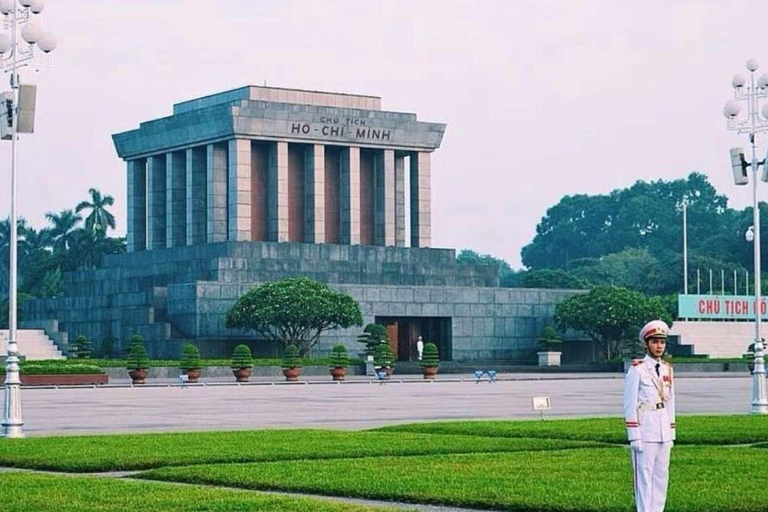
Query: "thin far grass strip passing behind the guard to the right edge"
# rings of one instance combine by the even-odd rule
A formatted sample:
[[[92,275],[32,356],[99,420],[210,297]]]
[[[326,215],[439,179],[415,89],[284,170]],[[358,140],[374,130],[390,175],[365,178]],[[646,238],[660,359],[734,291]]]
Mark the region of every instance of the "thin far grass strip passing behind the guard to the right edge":
[[[678,416],[677,444],[751,444],[768,436],[768,416]],[[414,423],[376,429],[377,432],[410,432],[482,437],[540,437],[626,444],[622,418],[526,421],[452,421]]]

